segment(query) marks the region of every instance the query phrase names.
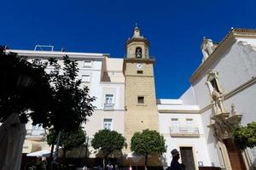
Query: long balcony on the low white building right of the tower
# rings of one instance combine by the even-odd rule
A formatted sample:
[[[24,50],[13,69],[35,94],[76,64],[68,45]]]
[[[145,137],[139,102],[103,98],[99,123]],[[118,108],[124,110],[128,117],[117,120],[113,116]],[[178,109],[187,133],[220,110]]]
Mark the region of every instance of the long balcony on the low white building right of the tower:
[[[198,127],[170,127],[173,137],[199,137]]]

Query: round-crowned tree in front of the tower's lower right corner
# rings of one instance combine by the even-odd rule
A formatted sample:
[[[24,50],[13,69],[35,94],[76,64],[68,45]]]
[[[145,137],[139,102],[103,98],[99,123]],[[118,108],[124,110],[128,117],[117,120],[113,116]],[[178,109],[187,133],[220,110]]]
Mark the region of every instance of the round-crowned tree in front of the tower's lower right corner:
[[[145,157],[145,169],[147,169],[148,155],[162,154],[166,152],[165,139],[155,130],[143,130],[143,133],[134,133],[131,138],[131,151],[137,156]]]

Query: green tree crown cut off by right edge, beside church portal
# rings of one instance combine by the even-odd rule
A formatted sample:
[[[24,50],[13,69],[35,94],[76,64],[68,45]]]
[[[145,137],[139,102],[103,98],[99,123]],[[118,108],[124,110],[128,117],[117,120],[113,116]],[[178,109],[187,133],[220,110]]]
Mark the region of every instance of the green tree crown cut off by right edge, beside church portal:
[[[247,147],[256,146],[256,122],[248,123],[247,126],[236,127],[233,132],[233,141],[237,148],[245,150]]]

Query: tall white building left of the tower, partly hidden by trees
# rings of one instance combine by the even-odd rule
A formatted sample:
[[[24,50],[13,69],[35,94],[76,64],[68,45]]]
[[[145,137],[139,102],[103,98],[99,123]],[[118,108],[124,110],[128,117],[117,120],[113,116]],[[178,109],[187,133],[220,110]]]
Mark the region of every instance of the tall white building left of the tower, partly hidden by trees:
[[[53,57],[63,66],[62,57],[67,55],[70,59],[78,62],[79,78],[82,85],[90,88],[90,96],[96,97],[93,105],[96,109],[89,121],[84,124],[84,131],[90,140],[93,135],[104,128],[115,130],[124,135],[124,100],[125,79],[122,72],[123,59],[109,59],[108,54],[70,53],[55,51],[32,51],[32,50],[9,50],[20,56],[26,56],[29,60],[36,59],[38,62],[47,61]],[[8,52],[8,51],[7,51]],[[47,67],[46,71],[51,71]],[[24,153],[36,150],[49,150],[49,145],[43,142],[46,131],[43,127],[32,126],[32,122],[26,124],[26,140],[23,146]],[[93,152],[92,148],[90,151]],[[69,156],[69,153],[67,153]],[[76,154],[70,153],[76,157]],[[90,157],[95,157],[90,154]]]

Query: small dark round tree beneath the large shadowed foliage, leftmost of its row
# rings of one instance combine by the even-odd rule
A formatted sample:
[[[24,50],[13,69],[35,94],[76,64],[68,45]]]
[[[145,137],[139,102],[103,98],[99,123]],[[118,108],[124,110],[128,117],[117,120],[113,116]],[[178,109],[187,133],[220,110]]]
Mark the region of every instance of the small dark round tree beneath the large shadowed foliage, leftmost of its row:
[[[55,130],[51,129],[49,130],[49,134],[47,135],[47,143],[48,144],[56,144],[55,141]],[[85,133],[79,128],[79,130],[76,131],[70,131],[70,132],[62,132],[61,133],[61,139],[60,139],[60,146],[63,150],[63,158],[65,160],[67,150],[73,150],[74,148],[77,148],[84,144],[85,142]]]

